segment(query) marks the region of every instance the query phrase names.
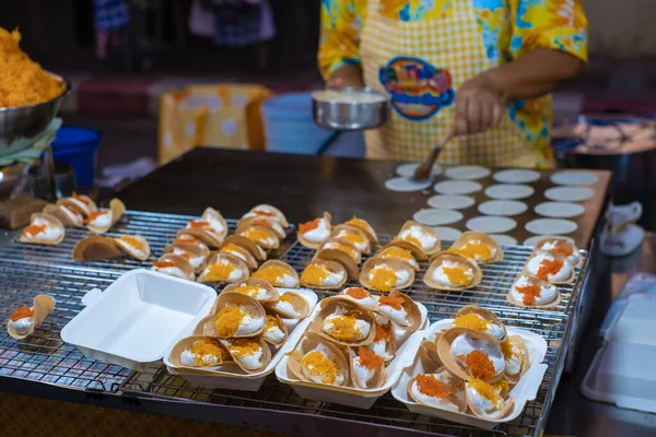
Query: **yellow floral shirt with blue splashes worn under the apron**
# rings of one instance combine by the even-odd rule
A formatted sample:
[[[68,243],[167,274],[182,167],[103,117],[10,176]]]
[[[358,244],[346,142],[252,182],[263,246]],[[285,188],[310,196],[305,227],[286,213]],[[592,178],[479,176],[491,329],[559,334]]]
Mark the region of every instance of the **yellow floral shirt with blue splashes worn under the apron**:
[[[538,47],[572,54],[587,61],[587,20],[581,0],[380,0],[380,13],[399,21],[438,19],[456,1],[470,1],[492,67]],[[321,0],[318,62],[323,74],[345,63],[360,64],[359,36],[367,0]],[[551,97],[513,102],[511,119],[526,141],[548,149]],[[546,156],[546,161],[550,161]],[[538,163],[548,166],[549,162]]]

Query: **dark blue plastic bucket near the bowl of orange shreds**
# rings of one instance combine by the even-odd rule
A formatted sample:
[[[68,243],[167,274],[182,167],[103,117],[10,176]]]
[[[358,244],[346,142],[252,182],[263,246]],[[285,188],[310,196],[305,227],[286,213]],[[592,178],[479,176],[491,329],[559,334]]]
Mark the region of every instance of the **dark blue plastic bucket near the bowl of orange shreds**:
[[[91,187],[95,175],[96,150],[99,145],[99,132],[63,126],[52,141],[52,158],[56,163],[73,166],[78,186]]]

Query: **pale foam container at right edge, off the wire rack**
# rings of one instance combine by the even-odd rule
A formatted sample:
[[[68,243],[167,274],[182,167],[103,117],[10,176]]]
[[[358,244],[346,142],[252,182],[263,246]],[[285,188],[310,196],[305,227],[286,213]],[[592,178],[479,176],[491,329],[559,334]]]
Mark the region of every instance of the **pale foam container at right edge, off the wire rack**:
[[[606,332],[581,383],[594,401],[656,413],[656,297],[633,294]]]

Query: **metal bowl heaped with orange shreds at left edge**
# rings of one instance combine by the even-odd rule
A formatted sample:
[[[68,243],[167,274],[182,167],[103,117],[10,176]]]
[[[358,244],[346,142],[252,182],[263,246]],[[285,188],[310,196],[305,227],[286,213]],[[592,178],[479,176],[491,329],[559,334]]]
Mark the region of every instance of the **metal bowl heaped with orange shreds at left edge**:
[[[0,108],[0,156],[30,147],[33,139],[50,125],[59,111],[71,84],[63,78],[52,75],[66,83],[60,96],[36,105]]]

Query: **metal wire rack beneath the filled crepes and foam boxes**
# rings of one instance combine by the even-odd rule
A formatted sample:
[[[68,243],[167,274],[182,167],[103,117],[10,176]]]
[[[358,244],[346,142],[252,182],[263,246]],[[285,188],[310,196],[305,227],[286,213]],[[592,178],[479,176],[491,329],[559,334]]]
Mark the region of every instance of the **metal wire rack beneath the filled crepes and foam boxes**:
[[[149,239],[154,256],[159,256],[164,245],[190,218],[194,217],[128,211],[116,231],[109,235],[139,233]],[[227,223],[231,228],[236,224],[231,220]],[[242,416],[243,421],[247,421],[243,423],[266,425],[281,432],[292,432],[292,421],[298,425],[300,421],[321,420],[328,421],[328,424],[351,421],[353,426],[384,426],[387,430],[397,433],[539,436],[563,370],[573,332],[573,316],[576,314],[587,271],[587,253],[584,252],[586,263],[577,269],[576,283],[561,287],[563,302],[551,310],[519,309],[509,306],[505,299],[506,290],[531,251],[523,246],[504,247],[504,261],[484,267],[484,280],[475,290],[440,293],[418,281],[407,291],[426,306],[432,321],[453,316],[462,305],[477,304],[494,310],[505,323],[530,329],[547,340],[549,347],[546,362],[549,368],[536,400],[529,402],[524,413],[513,423],[485,432],[410,413],[389,394],[376,402],[371,410],[356,410],[301,399],[289,386],[278,382],[274,376],[269,377],[265,386],[254,393],[207,390],[192,387],[183,378],[167,374],[162,365],[151,366],[144,373],[132,373],[118,366],[86,359],[59,339],[61,328],[82,309],[81,297],[91,288],[106,287],[125,271],[148,267],[150,262],[121,260],[75,263],[71,259],[71,250],[84,235],[82,229],[67,229],[65,241],[55,247],[22,245],[15,239],[0,247],[0,319],[3,322],[16,306],[28,304],[37,293],[51,294],[57,300],[57,310],[26,341],[13,340],[2,327],[0,377],[48,382],[79,390],[101,390],[140,399],[183,401],[214,408],[224,405],[234,410],[234,414]],[[390,237],[382,236],[382,243]],[[312,250],[296,243],[288,243],[273,257],[302,271],[312,255]],[[421,279],[425,268],[425,264],[422,265],[418,277]],[[320,297],[331,294],[319,293]],[[266,416],[263,413],[276,413],[280,415],[280,420],[258,424],[258,417]],[[283,417],[290,420],[285,421]],[[214,420],[212,415],[207,418]]]

